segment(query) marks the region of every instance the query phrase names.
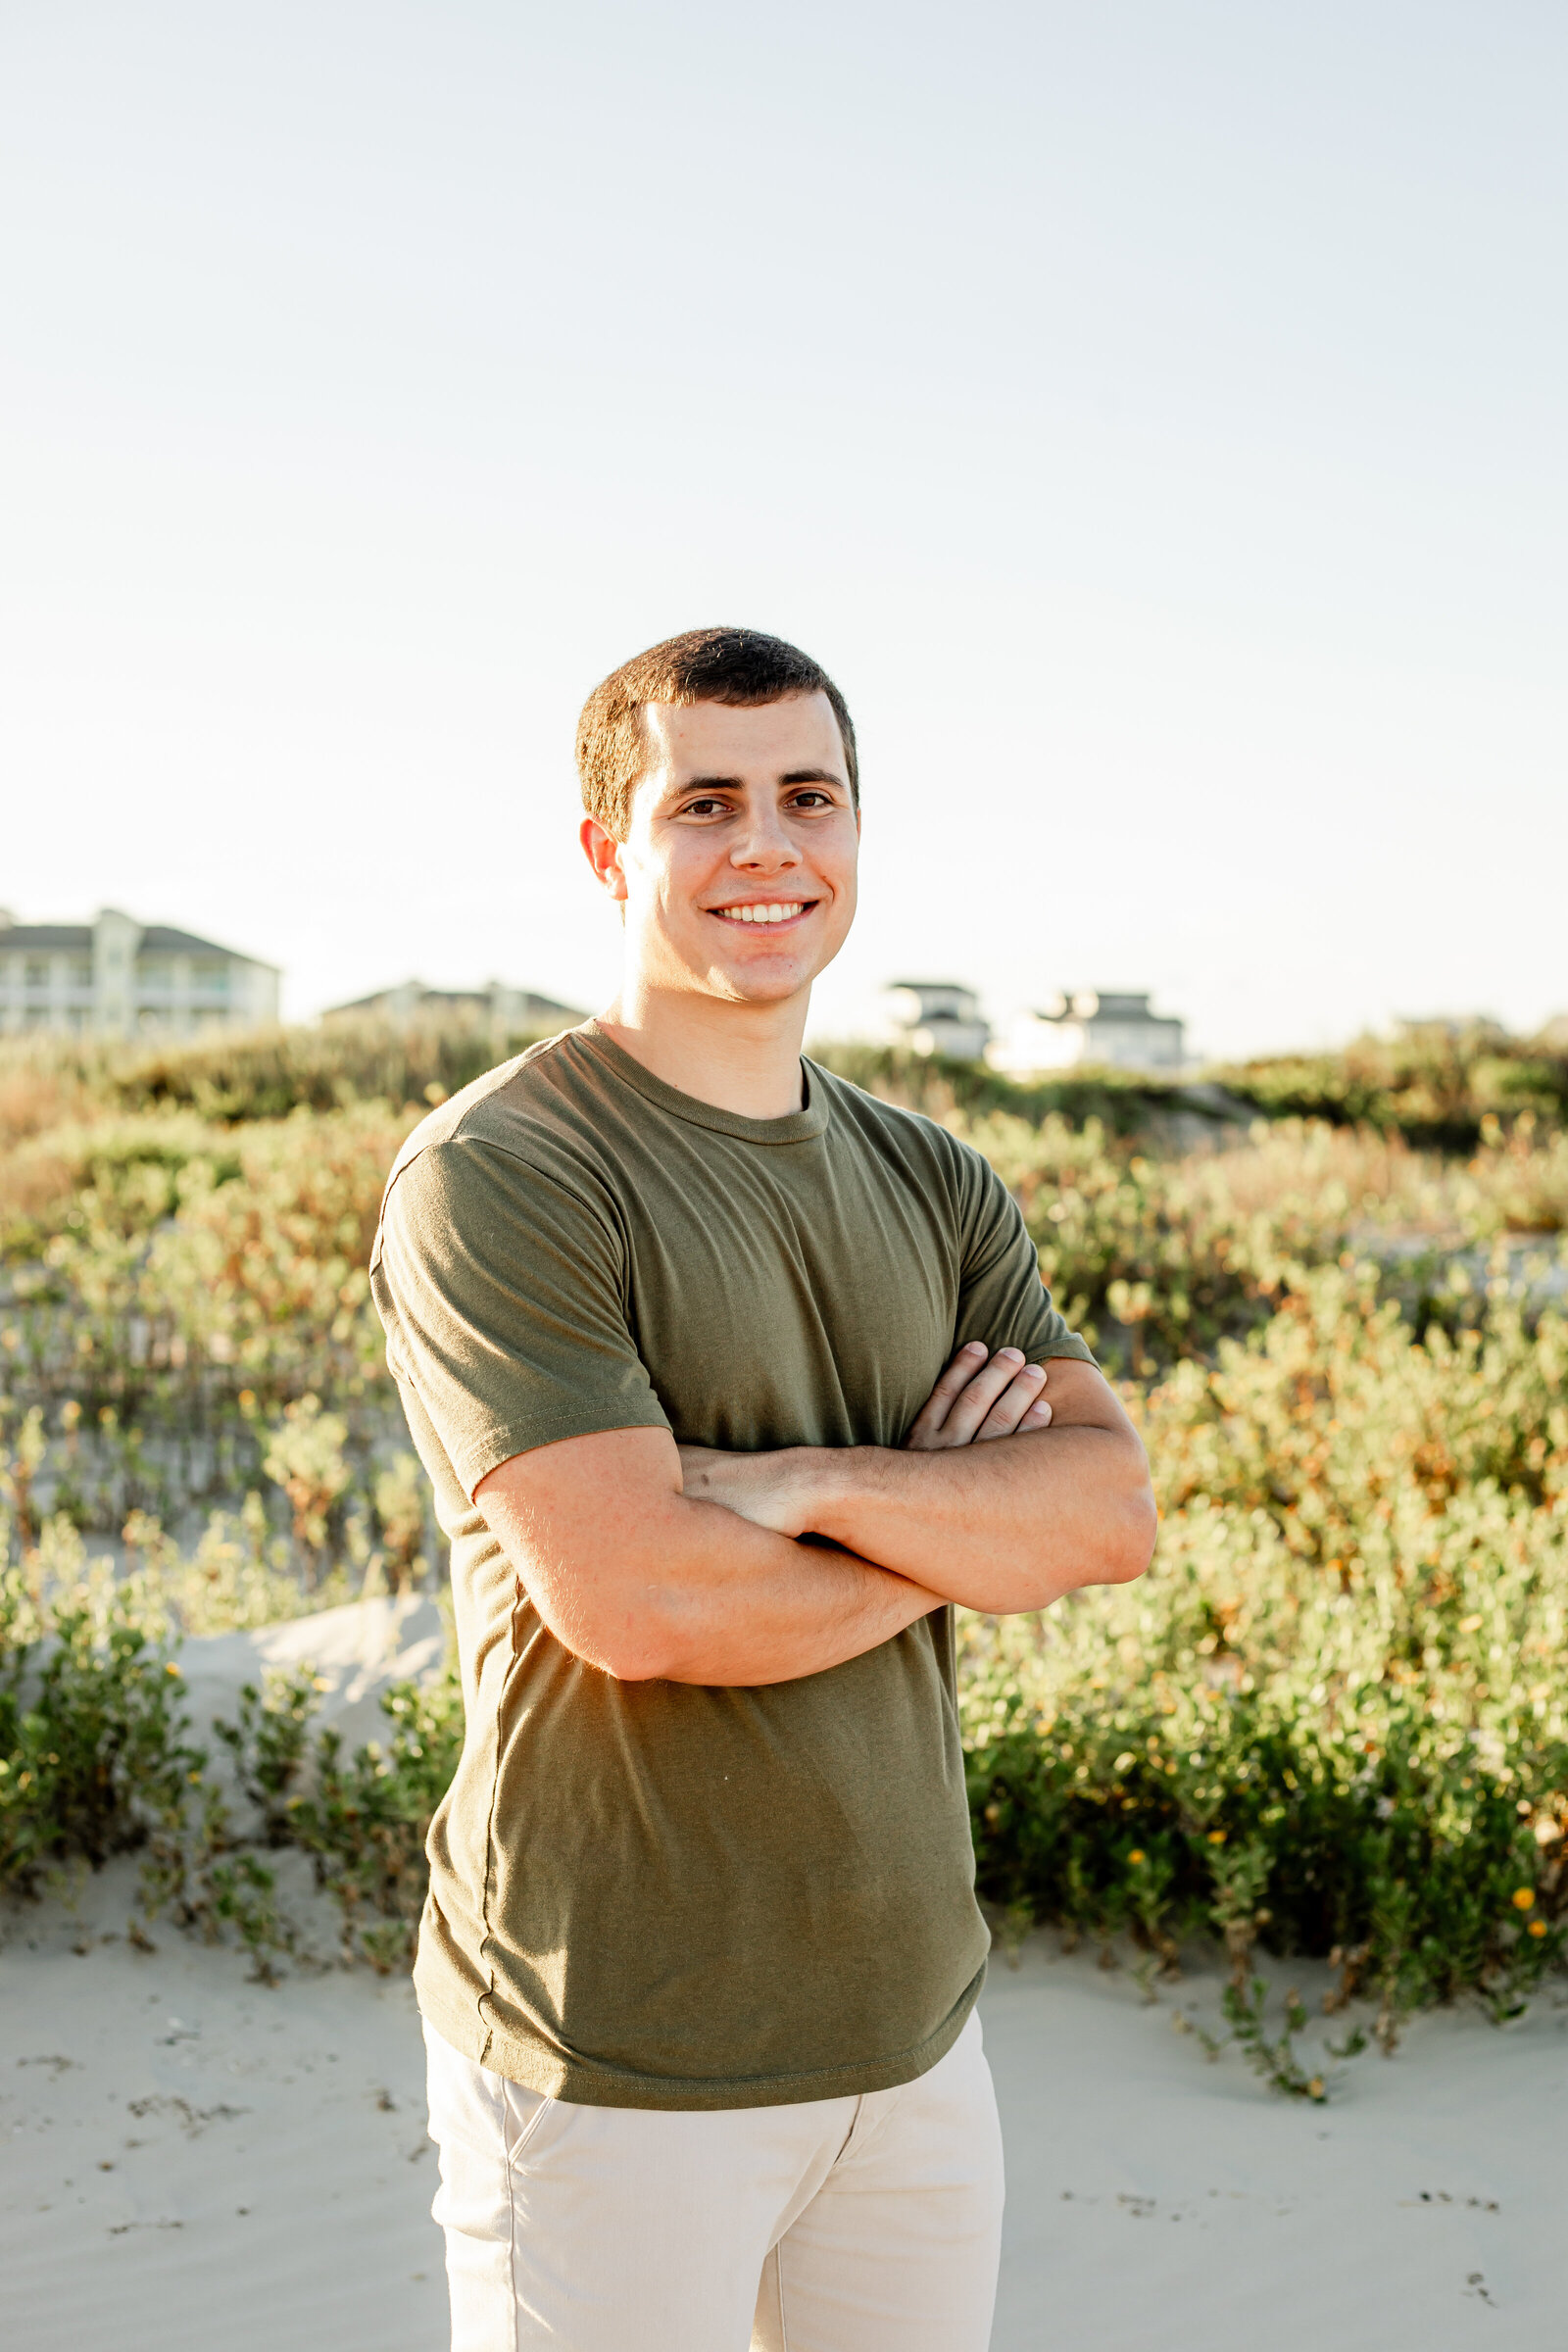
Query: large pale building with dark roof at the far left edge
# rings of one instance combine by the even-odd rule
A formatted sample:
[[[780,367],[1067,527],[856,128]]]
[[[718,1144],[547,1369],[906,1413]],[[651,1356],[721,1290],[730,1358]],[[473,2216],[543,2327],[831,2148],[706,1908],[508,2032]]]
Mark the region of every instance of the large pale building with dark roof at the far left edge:
[[[277,967],[254,955],[141,924],[113,906],[96,922],[14,922],[0,908],[0,1030],[190,1037],[270,1021]]]

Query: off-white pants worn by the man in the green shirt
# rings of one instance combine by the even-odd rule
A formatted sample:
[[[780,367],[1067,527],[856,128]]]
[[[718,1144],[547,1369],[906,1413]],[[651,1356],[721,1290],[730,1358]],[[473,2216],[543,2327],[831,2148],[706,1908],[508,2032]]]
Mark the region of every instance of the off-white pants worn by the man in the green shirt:
[[[574,2107],[425,2046],[454,2352],[985,2352],[978,2016],[898,2091],[717,2114]]]

